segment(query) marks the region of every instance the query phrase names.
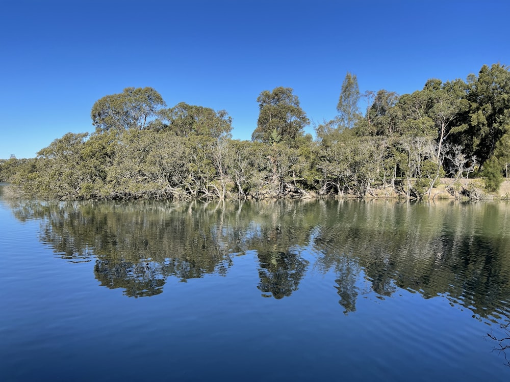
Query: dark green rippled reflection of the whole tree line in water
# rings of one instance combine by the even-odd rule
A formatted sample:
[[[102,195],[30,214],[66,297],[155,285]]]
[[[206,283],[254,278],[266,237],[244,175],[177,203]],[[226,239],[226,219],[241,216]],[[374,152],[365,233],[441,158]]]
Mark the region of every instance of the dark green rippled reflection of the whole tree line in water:
[[[407,289],[442,296],[478,319],[501,322],[510,301],[510,205],[505,203],[38,202],[5,201],[40,240],[71,262],[95,261],[100,284],[127,296],[225,276],[257,255],[264,296],[291,296],[313,268],[333,274],[339,303]],[[311,263],[313,261],[313,264]]]

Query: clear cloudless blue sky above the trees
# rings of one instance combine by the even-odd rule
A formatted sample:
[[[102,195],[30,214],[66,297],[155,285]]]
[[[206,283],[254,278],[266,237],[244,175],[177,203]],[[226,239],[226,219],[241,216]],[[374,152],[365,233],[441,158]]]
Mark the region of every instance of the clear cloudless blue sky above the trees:
[[[509,14],[507,0],[1,0],[0,158],[92,132],[94,102],[130,86],[226,110],[234,139],[277,86],[321,122],[347,71],[362,92],[404,94],[510,65]]]

